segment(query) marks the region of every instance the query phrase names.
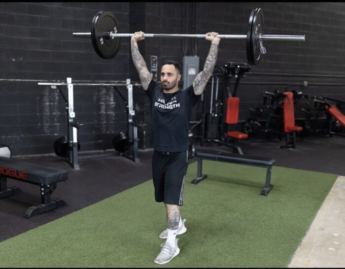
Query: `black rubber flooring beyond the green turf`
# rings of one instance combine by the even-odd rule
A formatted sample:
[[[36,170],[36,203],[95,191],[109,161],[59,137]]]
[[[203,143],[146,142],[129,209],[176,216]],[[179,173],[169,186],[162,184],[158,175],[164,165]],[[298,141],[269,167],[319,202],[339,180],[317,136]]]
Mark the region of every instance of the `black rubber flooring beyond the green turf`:
[[[299,138],[296,149],[280,149],[283,143],[284,141],[276,139],[243,141],[240,145],[245,155],[274,158],[276,166],[345,175],[345,137]],[[197,145],[196,149],[232,151],[232,148],[215,143],[206,143],[203,148]],[[150,180],[152,154],[152,149],[139,150],[139,163],[122,156],[80,160],[80,170],[73,170],[55,155],[14,157],[13,159],[67,169],[68,180],[58,183],[51,195],[52,199],[63,199],[67,205],[29,219],[25,218],[27,208],[40,203],[39,187],[8,179],[7,187],[20,187],[24,193],[0,200],[0,241]],[[195,157],[190,159],[190,163],[195,161]]]

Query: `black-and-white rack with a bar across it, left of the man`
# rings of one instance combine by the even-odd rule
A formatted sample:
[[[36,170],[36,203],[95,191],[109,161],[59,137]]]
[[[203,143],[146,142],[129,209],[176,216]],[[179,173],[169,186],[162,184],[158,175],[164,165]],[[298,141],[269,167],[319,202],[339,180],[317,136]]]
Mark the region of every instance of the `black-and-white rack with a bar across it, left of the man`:
[[[78,160],[91,159],[91,158],[101,158],[101,157],[112,157],[112,156],[124,156],[133,162],[139,162],[138,159],[138,131],[137,126],[133,122],[133,116],[135,111],[133,110],[133,84],[131,80],[127,79],[126,84],[124,83],[72,83],[70,77],[67,78],[67,83],[51,83],[51,82],[38,82],[38,85],[50,86],[52,89],[58,87],[61,95],[63,96],[66,102],[66,110],[68,116],[68,125],[67,125],[67,136],[62,136],[58,138],[53,146],[54,151],[58,156],[61,156],[62,159],[69,164],[74,170],[79,170]],[[96,154],[82,154],[78,156],[78,151],[80,149],[79,142],[77,140],[77,130],[80,128],[81,124],[74,121],[75,112],[73,104],[73,85],[82,85],[82,86],[126,86],[128,90],[128,137],[125,133],[120,132],[115,135],[113,138],[113,145],[115,152],[102,152]],[[135,84],[138,86],[139,84]],[[60,86],[66,86],[68,89],[68,98],[65,97]],[[117,88],[115,90],[119,93]],[[121,95],[121,98],[123,96]],[[125,99],[124,99],[125,100]]]

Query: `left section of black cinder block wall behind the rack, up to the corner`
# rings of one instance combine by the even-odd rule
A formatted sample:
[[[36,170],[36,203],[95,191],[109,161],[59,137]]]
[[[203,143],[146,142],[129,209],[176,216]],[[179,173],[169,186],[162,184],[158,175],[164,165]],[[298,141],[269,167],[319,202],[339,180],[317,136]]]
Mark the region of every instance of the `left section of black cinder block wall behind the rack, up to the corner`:
[[[37,82],[120,81],[129,76],[128,40],[116,58],[100,58],[91,32],[100,10],[116,14],[122,32],[129,31],[128,2],[0,3],[0,142],[13,156],[54,153],[53,143],[67,134],[66,103],[58,89]],[[127,98],[126,86],[117,86]],[[136,87],[134,87],[136,88]],[[67,87],[61,87],[68,96]],[[112,149],[112,138],[127,130],[125,102],[112,86],[77,86],[75,121],[81,151]]]

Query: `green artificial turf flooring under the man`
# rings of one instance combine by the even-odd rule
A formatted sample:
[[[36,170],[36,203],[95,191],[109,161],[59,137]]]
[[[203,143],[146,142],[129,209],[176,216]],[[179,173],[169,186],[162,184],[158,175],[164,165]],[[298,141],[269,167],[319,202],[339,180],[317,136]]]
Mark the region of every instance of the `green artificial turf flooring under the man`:
[[[149,180],[0,242],[0,267],[287,267],[337,179],[273,167],[274,187],[262,197],[265,168],[204,161],[208,177],[192,185],[196,169],[188,168],[181,207],[187,233],[170,263],[153,262],[165,242],[158,236],[166,212]]]

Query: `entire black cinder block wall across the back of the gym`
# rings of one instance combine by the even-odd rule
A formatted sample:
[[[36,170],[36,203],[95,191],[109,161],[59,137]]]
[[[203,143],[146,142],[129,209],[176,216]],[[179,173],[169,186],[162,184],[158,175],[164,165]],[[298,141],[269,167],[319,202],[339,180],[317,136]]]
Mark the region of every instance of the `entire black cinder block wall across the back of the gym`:
[[[252,9],[262,8],[264,34],[305,34],[305,42],[267,41],[267,54],[240,81],[240,120],[251,116],[250,107],[262,104],[262,92],[296,89],[309,95],[345,100],[345,4],[342,2],[1,2],[0,3],[0,142],[14,156],[53,153],[55,139],[67,129],[65,103],[58,90],[37,86],[37,81],[139,81],[133,66],[129,38],[121,39],[112,60],[100,58],[90,38],[72,32],[90,32],[100,10],[115,14],[122,33],[246,34]],[[200,57],[203,68],[209,42],[191,38],[146,38],[139,49],[149,67],[184,55]],[[246,62],[245,40],[222,39],[217,66]],[[304,82],[308,82],[308,86]],[[235,78],[231,78],[230,88]],[[206,110],[209,111],[210,83]],[[127,96],[126,87],[119,87]],[[135,120],[141,148],[151,146],[148,99],[134,87]],[[299,104],[303,106],[303,104]],[[81,150],[112,148],[116,132],[126,130],[125,103],[108,86],[75,86],[76,121]],[[193,119],[201,117],[201,102]],[[300,107],[296,107],[297,115]],[[143,132],[145,131],[145,134]],[[141,136],[140,136],[141,135]]]

